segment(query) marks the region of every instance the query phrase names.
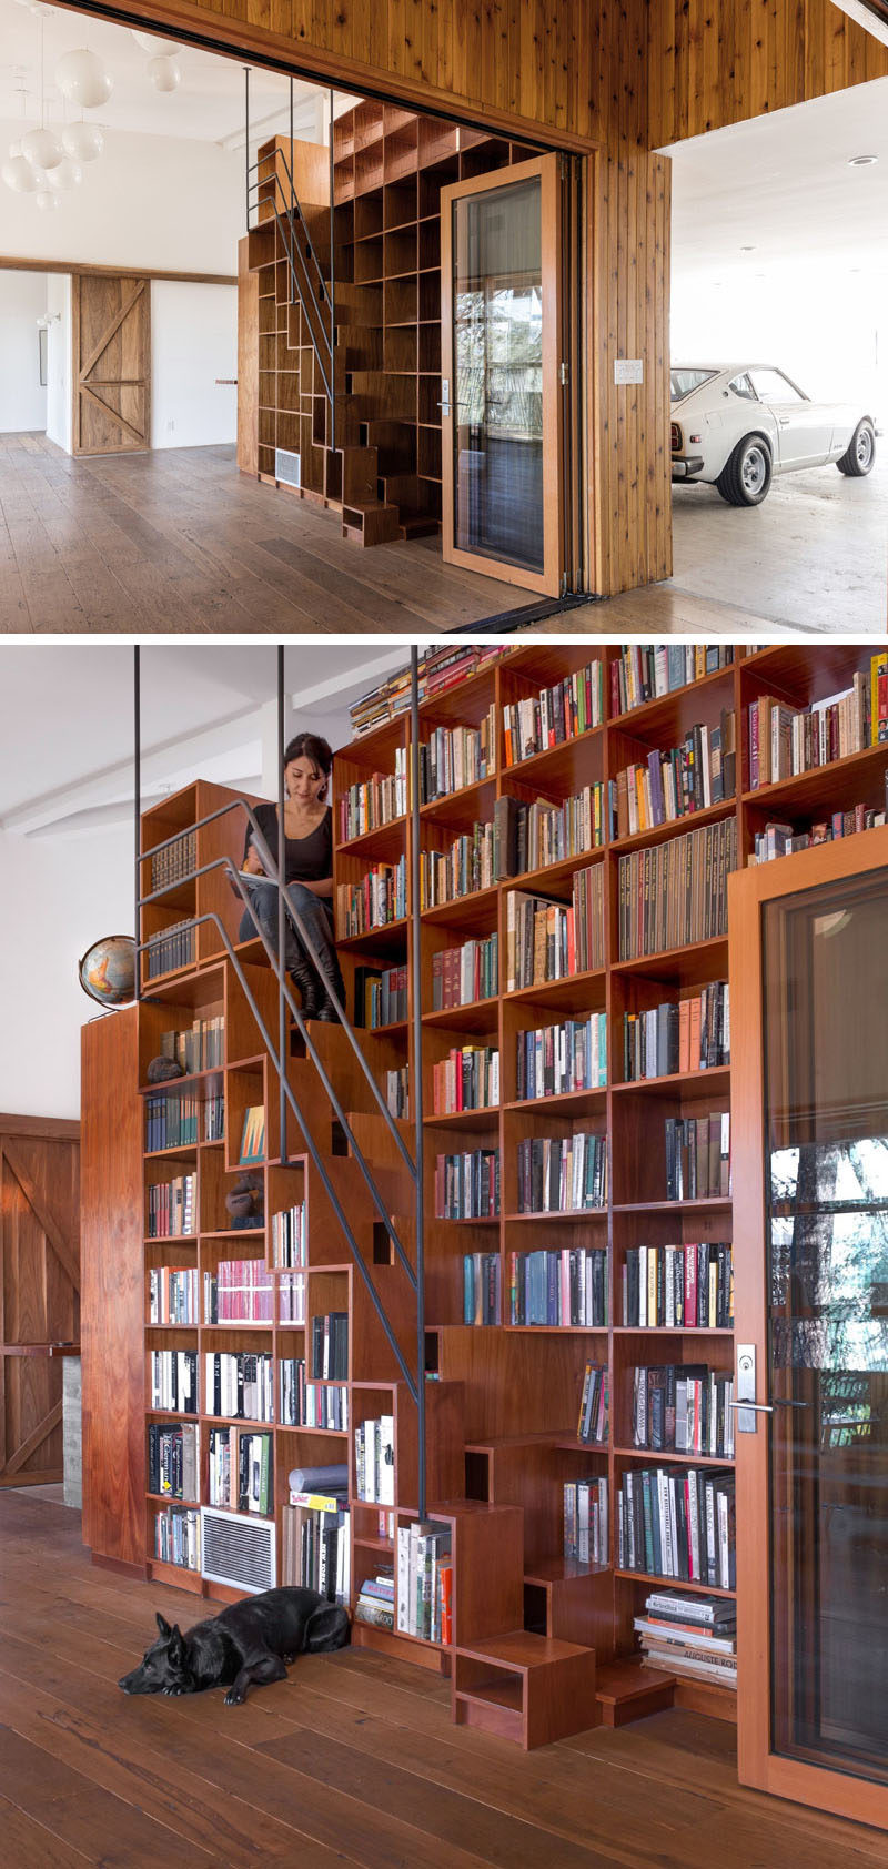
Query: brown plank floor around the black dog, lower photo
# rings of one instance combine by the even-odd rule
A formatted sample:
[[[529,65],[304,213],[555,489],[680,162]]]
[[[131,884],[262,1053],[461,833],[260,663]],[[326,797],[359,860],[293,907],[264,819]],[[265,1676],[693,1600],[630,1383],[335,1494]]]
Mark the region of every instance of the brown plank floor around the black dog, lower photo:
[[[849,1869],[884,1835],[737,1785],[735,1734],[656,1714],[523,1755],[449,1721],[424,1669],[297,1662],[239,1708],[123,1699],[153,1609],[77,1512],[0,1491],[0,1835],[22,1869]]]

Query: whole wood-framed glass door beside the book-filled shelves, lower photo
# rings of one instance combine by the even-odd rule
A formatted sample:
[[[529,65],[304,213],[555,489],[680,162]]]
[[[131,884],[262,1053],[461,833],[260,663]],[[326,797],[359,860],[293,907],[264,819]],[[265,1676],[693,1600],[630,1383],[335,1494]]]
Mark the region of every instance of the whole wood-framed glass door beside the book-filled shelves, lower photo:
[[[852,841],[871,835],[884,852],[884,834]],[[808,858],[851,867],[836,847]],[[757,1295],[750,1191],[737,1232],[740,1776],[888,1824],[888,867],[765,892],[757,933]],[[731,923],[731,953],[740,938]],[[735,1097],[753,1090],[740,1075]]]

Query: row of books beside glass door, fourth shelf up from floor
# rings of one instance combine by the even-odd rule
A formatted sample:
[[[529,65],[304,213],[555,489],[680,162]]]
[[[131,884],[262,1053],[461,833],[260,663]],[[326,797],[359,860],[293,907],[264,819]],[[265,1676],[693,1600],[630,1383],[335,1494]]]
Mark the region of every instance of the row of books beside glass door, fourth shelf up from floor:
[[[729,1331],[735,1321],[733,1254],[727,1241],[628,1247],[623,1323],[632,1331]]]

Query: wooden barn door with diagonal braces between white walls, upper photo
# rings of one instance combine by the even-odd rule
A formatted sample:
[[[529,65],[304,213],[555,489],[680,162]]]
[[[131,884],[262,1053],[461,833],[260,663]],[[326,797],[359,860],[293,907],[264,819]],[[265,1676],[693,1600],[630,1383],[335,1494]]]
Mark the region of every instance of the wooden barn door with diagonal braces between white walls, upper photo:
[[[151,288],[116,273],[73,275],[75,454],[148,449]]]

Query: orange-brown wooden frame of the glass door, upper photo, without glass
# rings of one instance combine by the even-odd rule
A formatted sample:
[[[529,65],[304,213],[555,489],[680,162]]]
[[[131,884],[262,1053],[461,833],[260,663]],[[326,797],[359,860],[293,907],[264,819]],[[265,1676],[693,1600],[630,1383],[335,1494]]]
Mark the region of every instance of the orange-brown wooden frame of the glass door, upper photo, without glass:
[[[445,564],[499,578],[540,596],[561,594],[565,557],[565,486],[563,486],[563,394],[559,383],[563,344],[561,293],[561,174],[555,151],[495,168],[486,176],[452,181],[441,189],[441,379],[451,385],[449,409],[441,409],[441,557]],[[452,204],[473,194],[495,194],[531,178],[540,178],[542,215],[542,572],[480,551],[460,551],[452,544],[454,523],[454,355],[452,355]],[[546,385],[551,392],[546,394]],[[553,465],[550,465],[553,464]]]

